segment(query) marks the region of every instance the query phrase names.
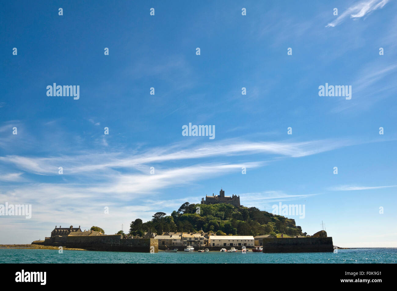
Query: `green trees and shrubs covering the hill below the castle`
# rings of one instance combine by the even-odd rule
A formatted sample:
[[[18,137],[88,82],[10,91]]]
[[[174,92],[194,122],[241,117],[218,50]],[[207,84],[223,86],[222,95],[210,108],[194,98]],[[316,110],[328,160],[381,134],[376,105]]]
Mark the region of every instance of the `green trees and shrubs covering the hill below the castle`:
[[[153,219],[140,218],[130,224],[131,235],[142,236],[145,231],[214,232],[216,235],[303,235],[294,219],[261,211],[256,207],[235,207],[231,204],[189,204],[185,202],[170,216],[156,212]]]

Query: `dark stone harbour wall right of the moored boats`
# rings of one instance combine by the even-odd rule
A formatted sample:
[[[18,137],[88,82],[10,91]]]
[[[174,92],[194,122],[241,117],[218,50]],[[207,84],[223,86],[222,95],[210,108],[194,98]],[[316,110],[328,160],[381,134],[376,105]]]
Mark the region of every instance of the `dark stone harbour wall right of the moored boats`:
[[[263,252],[333,252],[332,237],[265,238]]]

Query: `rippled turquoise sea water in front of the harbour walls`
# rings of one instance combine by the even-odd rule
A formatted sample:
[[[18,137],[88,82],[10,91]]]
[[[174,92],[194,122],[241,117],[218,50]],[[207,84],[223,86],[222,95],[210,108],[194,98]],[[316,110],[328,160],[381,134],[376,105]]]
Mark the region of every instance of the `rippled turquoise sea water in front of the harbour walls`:
[[[263,254],[248,252],[96,252],[0,249],[0,263],[397,263],[397,248]]]

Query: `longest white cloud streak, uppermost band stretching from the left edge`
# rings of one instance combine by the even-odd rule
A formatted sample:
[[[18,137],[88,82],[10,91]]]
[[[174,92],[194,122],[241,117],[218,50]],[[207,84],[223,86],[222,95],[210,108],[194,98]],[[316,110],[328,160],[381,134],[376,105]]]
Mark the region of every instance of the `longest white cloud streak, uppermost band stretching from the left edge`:
[[[58,167],[63,166],[64,170],[67,169],[67,172],[73,175],[117,168],[137,169],[144,164],[222,156],[270,154],[298,158],[353,144],[353,141],[347,139],[325,139],[292,143],[227,140],[218,143],[206,143],[191,149],[183,148],[183,145],[164,146],[135,154],[126,152],[100,154],[84,152],[76,155],[61,155],[49,158],[12,155],[0,157],[0,162],[13,164],[21,170],[42,175],[58,175]]]

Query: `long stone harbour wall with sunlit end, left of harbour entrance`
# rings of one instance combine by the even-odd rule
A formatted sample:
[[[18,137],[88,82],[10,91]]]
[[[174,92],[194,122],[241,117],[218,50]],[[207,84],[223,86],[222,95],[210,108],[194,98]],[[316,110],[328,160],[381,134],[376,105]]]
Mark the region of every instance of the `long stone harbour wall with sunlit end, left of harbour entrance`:
[[[89,251],[158,252],[157,239],[121,239],[121,235],[46,237],[41,244]]]

